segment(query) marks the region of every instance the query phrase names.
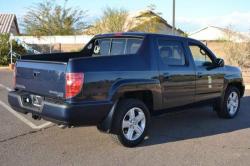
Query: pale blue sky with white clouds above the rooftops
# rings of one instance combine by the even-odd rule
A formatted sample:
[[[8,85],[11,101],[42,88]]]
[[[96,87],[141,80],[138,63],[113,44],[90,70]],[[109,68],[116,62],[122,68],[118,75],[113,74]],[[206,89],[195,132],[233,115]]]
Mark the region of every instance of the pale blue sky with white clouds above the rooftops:
[[[1,13],[14,13],[19,23],[27,7],[42,0],[0,0]],[[63,3],[63,0],[56,0]],[[68,0],[68,6],[88,11],[87,21],[98,18],[109,7],[124,8],[130,12],[155,4],[157,11],[172,23],[172,0]],[[207,25],[227,27],[237,31],[250,31],[249,0],[176,0],[177,27],[184,31],[196,31]]]

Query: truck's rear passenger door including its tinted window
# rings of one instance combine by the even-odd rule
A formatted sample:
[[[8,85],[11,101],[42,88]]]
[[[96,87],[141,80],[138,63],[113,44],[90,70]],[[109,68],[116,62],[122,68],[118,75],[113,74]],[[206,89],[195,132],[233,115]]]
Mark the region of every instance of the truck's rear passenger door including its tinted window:
[[[185,41],[157,39],[158,64],[163,107],[172,108],[194,102],[195,69],[185,49]]]

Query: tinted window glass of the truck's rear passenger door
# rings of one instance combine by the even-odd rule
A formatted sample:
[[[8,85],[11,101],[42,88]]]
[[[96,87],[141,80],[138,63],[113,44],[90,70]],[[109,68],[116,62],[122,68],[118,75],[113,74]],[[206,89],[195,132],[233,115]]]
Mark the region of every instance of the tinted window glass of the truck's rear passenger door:
[[[183,45],[178,41],[158,40],[158,50],[162,62],[169,66],[186,65]]]

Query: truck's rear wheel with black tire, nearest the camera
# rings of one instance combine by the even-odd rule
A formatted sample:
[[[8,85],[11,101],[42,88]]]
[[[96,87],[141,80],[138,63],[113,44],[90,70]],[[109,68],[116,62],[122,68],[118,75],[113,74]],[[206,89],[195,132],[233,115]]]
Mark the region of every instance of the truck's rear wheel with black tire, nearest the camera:
[[[124,99],[115,111],[112,137],[126,147],[134,147],[144,140],[149,122],[150,113],[142,101]]]

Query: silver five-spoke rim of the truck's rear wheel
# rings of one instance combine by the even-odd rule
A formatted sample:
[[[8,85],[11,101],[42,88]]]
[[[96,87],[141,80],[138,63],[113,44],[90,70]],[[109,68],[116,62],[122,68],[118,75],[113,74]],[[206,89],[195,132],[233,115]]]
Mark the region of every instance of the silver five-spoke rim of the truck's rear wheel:
[[[131,108],[122,121],[123,135],[130,141],[138,139],[145,130],[146,117],[142,109]]]

